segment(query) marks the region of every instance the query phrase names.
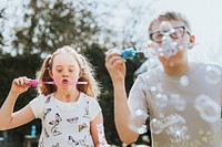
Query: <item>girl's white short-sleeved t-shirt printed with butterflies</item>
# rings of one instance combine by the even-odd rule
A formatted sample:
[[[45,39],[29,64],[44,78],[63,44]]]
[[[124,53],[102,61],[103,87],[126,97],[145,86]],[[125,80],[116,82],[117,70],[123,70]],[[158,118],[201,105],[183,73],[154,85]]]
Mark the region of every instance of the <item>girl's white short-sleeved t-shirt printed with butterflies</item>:
[[[95,98],[80,93],[74,103],[40,95],[30,102],[36,118],[42,122],[39,147],[94,147],[90,123],[101,112]]]

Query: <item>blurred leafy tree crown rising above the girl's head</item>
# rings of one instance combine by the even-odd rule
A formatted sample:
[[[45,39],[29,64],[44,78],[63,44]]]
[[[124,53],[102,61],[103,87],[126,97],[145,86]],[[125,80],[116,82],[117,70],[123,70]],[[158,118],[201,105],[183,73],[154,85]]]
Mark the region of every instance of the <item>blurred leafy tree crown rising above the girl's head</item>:
[[[31,0],[24,13],[24,24],[16,28],[12,45],[22,53],[51,53],[63,45],[85,49],[95,42],[100,31],[95,18],[90,11],[91,3],[63,0]]]

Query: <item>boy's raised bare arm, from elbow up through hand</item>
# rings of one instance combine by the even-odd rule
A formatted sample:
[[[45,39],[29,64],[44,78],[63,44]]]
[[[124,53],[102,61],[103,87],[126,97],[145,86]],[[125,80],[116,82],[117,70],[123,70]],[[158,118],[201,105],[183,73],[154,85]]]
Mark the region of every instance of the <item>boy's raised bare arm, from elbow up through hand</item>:
[[[125,60],[114,50],[105,53],[105,66],[111,76],[114,88],[114,120],[118,134],[125,144],[137,140],[138,134],[129,128],[130,108],[127,102],[127,93],[124,86],[125,78]]]

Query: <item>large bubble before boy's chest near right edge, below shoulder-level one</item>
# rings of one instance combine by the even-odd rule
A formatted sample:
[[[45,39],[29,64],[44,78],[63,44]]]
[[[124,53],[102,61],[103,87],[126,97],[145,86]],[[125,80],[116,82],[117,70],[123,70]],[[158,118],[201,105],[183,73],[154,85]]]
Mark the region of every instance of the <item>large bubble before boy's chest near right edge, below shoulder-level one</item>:
[[[212,101],[208,95],[200,95],[194,102],[195,109],[200,113],[202,119],[214,123],[221,118],[221,108],[218,103]]]

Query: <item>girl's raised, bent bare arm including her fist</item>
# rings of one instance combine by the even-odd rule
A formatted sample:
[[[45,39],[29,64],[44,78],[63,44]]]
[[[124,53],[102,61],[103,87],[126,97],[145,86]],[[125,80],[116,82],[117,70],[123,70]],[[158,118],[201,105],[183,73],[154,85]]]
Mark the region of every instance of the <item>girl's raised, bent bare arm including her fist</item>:
[[[16,101],[21,93],[30,87],[29,82],[30,80],[27,77],[13,80],[11,90],[0,109],[0,130],[21,126],[34,118],[34,114],[29,104],[22,109],[13,113]]]

